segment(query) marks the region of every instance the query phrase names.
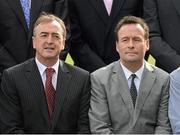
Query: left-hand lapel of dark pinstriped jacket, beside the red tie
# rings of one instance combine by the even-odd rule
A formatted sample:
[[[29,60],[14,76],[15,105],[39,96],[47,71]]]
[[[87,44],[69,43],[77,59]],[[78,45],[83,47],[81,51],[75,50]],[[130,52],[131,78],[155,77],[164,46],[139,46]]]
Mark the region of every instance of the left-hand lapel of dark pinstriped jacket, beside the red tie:
[[[26,66],[26,77],[29,80],[30,86],[32,87],[34,100],[37,101],[36,103],[39,105],[43,117],[47,123],[49,123],[49,114],[44,93],[44,86],[34,59],[31,59],[30,63]]]

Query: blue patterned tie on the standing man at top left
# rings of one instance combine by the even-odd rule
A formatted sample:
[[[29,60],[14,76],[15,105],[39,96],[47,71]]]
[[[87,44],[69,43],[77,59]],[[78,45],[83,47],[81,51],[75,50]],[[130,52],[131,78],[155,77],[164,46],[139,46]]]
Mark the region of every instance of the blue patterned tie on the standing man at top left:
[[[24,17],[26,20],[26,24],[29,28],[29,23],[30,23],[30,0],[20,0],[21,5],[22,5],[22,9],[24,12]]]

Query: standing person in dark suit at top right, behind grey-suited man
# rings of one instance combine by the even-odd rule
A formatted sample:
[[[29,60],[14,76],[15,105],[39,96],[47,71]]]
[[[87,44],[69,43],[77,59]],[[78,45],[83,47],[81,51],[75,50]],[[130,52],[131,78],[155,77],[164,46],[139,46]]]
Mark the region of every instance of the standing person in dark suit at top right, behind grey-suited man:
[[[150,27],[150,53],[167,72],[180,66],[180,1],[144,0],[144,19]]]

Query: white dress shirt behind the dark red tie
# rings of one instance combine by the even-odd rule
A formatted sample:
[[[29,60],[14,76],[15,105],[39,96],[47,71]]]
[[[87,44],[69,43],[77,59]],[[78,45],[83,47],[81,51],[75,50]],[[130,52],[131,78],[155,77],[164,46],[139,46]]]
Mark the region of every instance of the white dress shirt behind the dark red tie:
[[[39,62],[39,60],[37,58],[35,58],[35,62],[37,64],[37,67],[38,67],[38,70],[39,70],[39,73],[41,75],[41,78],[42,78],[42,82],[43,82],[43,85],[44,85],[44,88],[45,88],[45,81],[46,81],[46,67],[45,65],[43,65],[42,63]],[[54,64],[51,68],[53,68],[55,70],[55,73],[53,74],[52,76],[52,84],[53,84],[53,87],[54,89],[56,90],[56,86],[57,86],[57,77],[58,77],[58,69],[59,69],[59,60],[56,62],[56,64]]]

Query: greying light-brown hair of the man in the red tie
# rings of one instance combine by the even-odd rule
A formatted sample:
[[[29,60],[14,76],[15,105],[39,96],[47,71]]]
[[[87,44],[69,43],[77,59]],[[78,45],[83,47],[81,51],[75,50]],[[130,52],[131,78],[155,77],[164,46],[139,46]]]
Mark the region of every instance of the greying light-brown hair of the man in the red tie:
[[[62,36],[64,39],[66,39],[66,27],[64,22],[57,16],[55,16],[54,14],[51,13],[46,13],[46,12],[42,12],[40,14],[40,16],[38,17],[38,19],[36,20],[35,24],[34,24],[34,30],[33,30],[33,35],[36,35],[36,28],[39,24],[43,23],[43,22],[52,22],[52,21],[57,21],[61,28],[62,28]]]

